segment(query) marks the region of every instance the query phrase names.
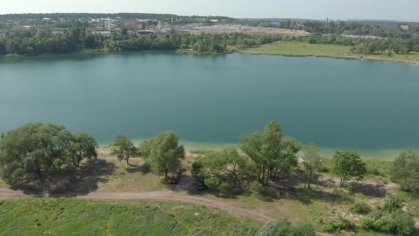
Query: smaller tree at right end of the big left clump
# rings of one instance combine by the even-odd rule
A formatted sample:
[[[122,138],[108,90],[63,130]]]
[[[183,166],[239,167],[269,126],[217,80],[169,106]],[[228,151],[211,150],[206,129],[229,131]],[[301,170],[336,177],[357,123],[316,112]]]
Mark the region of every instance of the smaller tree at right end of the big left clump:
[[[69,161],[74,167],[79,167],[83,159],[96,158],[98,144],[94,137],[86,132],[79,132],[73,135],[68,145]]]

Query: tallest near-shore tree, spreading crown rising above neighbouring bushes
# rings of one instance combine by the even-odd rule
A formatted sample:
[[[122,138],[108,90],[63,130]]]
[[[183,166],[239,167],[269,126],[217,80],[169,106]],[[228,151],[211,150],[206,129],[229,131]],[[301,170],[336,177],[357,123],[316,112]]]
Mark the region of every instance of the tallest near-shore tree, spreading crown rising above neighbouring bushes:
[[[283,139],[278,121],[269,122],[263,132],[243,135],[239,143],[243,153],[254,162],[257,179],[262,184],[298,164],[299,144],[296,139]]]

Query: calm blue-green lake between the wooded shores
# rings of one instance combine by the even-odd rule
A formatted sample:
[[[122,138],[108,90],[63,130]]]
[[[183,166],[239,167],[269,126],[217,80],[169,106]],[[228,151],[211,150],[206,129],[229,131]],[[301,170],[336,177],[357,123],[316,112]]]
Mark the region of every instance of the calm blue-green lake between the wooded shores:
[[[0,59],[0,132],[30,121],[101,144],[174,130],[195,148],[236,143],[272,119],[323,153],[394,158],[419,148],[419,66],[173,52]]]

